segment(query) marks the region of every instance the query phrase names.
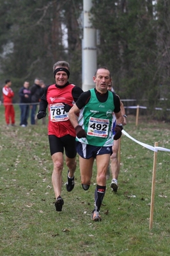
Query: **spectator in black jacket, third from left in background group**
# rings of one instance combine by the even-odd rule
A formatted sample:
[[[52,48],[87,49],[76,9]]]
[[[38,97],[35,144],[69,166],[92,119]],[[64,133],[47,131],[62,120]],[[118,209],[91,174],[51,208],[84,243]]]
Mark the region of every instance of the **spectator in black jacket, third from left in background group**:
[[[40,86],[40,80],[36,78],[34,85],[31,87],[31,124],[35,124],[36,108],[37,105],[39,105],[41,94],[42,88]]]

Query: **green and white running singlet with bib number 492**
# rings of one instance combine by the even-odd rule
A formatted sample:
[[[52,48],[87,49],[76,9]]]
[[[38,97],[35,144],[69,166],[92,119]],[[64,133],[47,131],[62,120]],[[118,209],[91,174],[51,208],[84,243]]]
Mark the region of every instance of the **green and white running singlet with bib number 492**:
[[[79,114],[79,125],[86,131],[87,137],[76,140],[93,146],[112,146],[113,94],[108,91],[107,101],[98,101],[95,89],[91,89],[91,98]]]

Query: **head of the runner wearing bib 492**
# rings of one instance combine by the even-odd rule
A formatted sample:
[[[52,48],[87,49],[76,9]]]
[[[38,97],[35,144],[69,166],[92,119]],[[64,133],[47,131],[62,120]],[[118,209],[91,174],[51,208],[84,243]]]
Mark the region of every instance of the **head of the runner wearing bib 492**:
[[[96,83],[96,89],[98,92],[104,94],[107,92],[107,87],[111,83],[111,77],[109,70],[98,69],[96,77],[93,76],[93,81]]]

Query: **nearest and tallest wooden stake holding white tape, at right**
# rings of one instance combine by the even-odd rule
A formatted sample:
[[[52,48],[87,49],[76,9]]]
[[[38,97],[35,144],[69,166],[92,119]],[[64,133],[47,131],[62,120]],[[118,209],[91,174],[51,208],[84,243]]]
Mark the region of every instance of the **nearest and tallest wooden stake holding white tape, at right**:
[[[155,147],[157,146],[158,146],[158,142],[155,142]],[[154,157],[153,157],[153,174],[152,174],[152,184],[151,184],[151,207],[150,207],[150,230],[153,226],[156,167],[157,167],[157,151],[154,152]]]

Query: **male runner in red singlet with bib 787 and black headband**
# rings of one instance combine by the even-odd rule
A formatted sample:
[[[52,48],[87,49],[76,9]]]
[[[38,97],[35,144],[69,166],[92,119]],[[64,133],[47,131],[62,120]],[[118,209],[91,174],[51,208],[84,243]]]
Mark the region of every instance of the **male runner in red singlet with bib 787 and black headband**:
[[[72,191],[74,187],[74,172],[76,169],[75,129],[68,118],[68,111],[82,94],[82,89],[69,83],[70,65],[68,62],[59,61],[54,64],[54,78],[56,83],[45,87],[44,94],[40,100],[40,110],[37,118],[46,115],[49,105],[49,145],[54,169],[52,172],[52,185],[56,196],[55,207],[61,211],[64,201],[61,198],[63,152],[65,149],[66,166],[68,167],[68,181],[66,190]]]

